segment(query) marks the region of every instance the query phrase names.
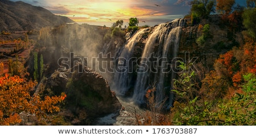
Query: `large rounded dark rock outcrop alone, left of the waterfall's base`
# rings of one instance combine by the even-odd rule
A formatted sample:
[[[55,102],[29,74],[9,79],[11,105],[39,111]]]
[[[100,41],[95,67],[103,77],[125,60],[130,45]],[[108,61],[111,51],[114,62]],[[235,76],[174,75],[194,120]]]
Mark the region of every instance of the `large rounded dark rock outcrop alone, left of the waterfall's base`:
[[[84,68],[83,73],[75,72],[71,76],[67,98],[70,105],[84,107],[89,117],[100,117],[110,113],[118,113],[121,103],[110,90],[108,82],[100,73]]]

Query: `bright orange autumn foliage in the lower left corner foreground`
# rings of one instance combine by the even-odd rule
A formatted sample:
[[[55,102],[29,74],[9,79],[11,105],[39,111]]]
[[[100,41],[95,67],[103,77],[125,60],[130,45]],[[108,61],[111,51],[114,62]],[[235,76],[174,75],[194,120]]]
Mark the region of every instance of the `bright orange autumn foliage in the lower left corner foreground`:
[[[60,111],[57,103],[62,102],[66,95],[48,97],[41,100],[38,96],[31,97],[30,91],[36,85],[33,81],[25,81],[19,76],[9,74],[0,77],[0,125],[13,125],[22,119],[19,113],[36,114],[38,118],[47,113]]]

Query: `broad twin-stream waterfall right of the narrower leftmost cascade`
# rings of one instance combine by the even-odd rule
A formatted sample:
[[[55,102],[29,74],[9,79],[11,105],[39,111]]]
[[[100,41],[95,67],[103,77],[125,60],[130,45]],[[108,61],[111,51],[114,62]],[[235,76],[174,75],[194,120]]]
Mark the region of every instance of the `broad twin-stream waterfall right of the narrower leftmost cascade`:
[[[162,71],[167,69],[167,61],[170,60],[170,57],[174,59],[177,56],[181,28],[184,26],[184,23],[184,19],[175,19],[169,23],[159,24],[149,36],[137,73],[137,81],[133,94],[135,102],[144,103],[146,91],[152,86],[156,88],[157,102],[170,96],[171,78],[173,78],[174,73],[168,72],[171,73],[171,78],[166,80],[167,73],[163,73]],[[164,85],[165,82],[169,86],[169,88],[167,87],[169,95],[164,91],[166,88],[166,85]]]

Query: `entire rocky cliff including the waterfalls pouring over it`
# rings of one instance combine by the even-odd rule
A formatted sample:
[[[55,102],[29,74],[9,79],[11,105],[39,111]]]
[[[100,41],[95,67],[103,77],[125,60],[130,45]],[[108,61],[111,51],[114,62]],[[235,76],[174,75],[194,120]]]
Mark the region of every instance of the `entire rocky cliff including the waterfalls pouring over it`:
[[[172,82],[179,72],[176,57],[187,64],[193,63],[195,71],[205,71],[204,77],[204,73],[214,69],[214,61],[221,54],[242,43],[241,32],[222,24],[218,15],[194,26],[191,19],[175,19],[146,30],[141,28],[119,47],[121,50],[115,50],[119,59],[135,58],[137,64],[119,64],[122,60],[118,60],[115,67],[126,67],[133,73],[115,73],[112,89],[125,96],[133,94],[134,101],[143,104],[147,90],[155,87],[159,101],[168,98],[168,109],[174,99],[170,92]],[[141,62],[142,59],[147,61]]]

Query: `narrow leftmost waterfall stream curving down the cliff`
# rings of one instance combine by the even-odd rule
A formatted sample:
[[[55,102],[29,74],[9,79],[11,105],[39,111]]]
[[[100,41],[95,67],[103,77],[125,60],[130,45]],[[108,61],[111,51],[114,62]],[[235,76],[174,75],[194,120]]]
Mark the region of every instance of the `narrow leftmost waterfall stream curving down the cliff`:
[[[122,96],[125,95],[127,90],[131,88],[131,70],[133,68],[129,63],[129,60],[131,59],[134,46],[146,30],[148,30],[148,28],[142,28],[135,32],[133,36],[131,36],[131,38],[126,42],[120,53],[118,53],[118,62],[114,74],[114,89]]]

